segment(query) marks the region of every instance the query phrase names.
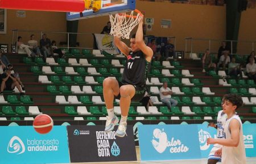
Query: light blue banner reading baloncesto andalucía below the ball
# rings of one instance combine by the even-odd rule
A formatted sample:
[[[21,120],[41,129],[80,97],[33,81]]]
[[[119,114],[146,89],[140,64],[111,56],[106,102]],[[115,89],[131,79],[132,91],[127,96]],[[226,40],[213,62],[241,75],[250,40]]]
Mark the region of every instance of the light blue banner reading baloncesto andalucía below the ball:
[[[40,135],[32,126],[0,127],[0,163],[69,163],[65,126]]]

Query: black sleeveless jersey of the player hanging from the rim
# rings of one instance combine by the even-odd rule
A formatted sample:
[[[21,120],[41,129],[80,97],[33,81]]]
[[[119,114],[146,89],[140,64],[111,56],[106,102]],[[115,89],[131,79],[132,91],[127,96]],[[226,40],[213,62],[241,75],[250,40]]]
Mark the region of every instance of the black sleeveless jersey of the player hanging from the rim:
[[[146,60],[142,51],[130,51],[123,70],[122,83],[140,87],[146,86],[150,66],[150,62]]]

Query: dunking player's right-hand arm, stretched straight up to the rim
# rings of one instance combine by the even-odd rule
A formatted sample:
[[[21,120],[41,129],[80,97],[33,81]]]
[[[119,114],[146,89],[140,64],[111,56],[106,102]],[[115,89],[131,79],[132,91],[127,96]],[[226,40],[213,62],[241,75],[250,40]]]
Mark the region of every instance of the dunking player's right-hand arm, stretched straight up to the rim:
[[[153,56],[153,50],[148,47],[145,42],[143,41],[143,18],[141,19],[141,21],[139,22],[139,26],[136,32],[136,37],[135,37],[135,41],[136,44],[138,46],[139,49],[142,50],[142,52],[146,55],[146,60],[148,62],[151,61],[151,58]]]

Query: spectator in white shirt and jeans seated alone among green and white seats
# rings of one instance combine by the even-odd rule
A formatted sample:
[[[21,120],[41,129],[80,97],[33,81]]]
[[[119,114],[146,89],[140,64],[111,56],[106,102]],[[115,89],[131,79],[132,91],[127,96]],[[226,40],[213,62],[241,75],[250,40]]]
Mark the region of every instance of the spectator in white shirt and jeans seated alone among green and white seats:
[[[160,100],[171,109],[172,106],[177,105],[177,100],[171,98],[172,90],[167,87],[167,82],[163,82],[163,87],[159,90]]]

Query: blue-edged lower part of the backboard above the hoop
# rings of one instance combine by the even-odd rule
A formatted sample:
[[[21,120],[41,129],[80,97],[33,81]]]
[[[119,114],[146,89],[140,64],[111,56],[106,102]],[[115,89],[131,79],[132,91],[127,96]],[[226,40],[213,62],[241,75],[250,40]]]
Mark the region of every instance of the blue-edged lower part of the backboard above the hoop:
[[[92,9],[86,9],[82,12],[67,12],[67,20],[78,20],[92,18],[96,16],[110,15],[118,12],[135,10],[135,0],[85,0],[85,6]],[[97,10],[95,6],[97,6]]]

